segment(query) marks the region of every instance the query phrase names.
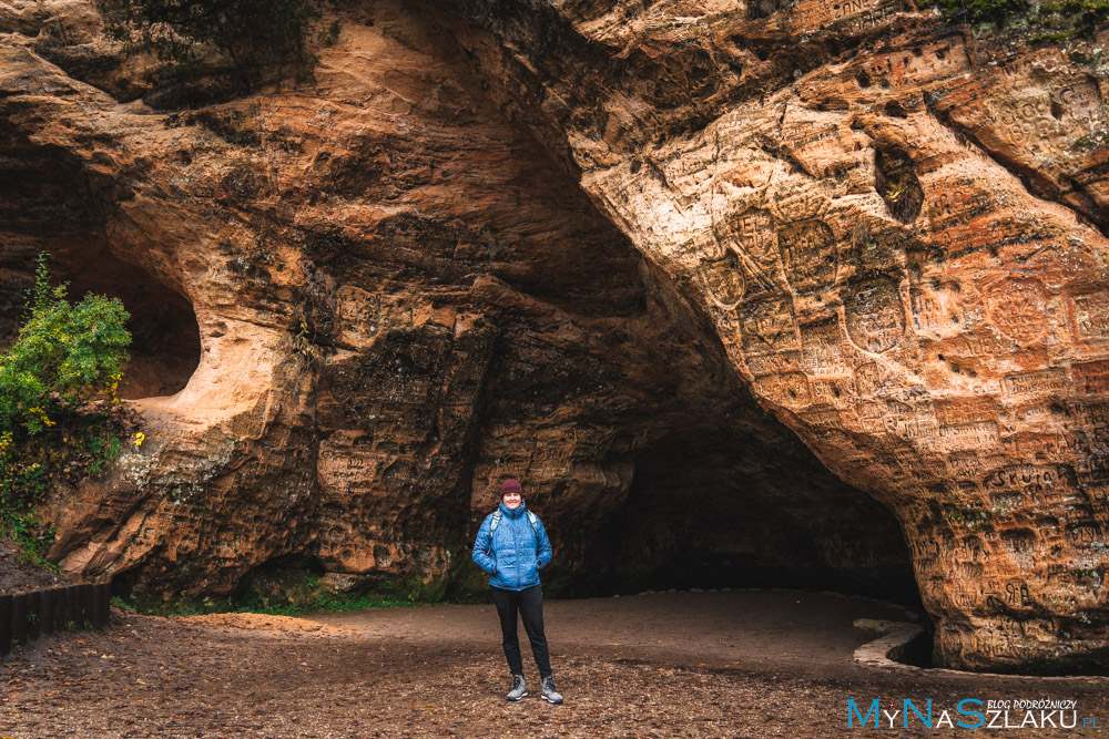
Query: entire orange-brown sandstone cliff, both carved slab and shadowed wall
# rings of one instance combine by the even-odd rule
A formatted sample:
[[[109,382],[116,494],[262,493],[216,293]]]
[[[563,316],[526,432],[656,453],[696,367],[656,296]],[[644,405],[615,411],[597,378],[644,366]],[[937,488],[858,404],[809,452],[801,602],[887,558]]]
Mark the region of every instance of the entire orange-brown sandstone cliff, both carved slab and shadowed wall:
[[[367,3],[243,97],[0,2],[0,329],[43,248],[122,297],[150,438],[51,555],[442,577],[512,474],[577,587],[873,587],[904,534],[948,664],[1097,663],[1100,58],[764,6]]]

